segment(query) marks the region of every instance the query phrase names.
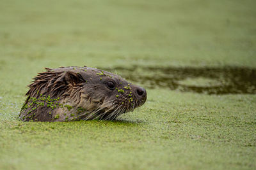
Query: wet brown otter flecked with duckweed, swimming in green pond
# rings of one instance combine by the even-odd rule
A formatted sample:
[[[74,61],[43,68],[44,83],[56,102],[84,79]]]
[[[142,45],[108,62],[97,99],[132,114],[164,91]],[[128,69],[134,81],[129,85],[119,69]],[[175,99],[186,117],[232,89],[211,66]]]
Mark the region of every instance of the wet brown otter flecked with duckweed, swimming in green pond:
[[[147,100],[147,92],[108,71],[92,67],[45,68],[28,85],[22,121],[114,120]]]

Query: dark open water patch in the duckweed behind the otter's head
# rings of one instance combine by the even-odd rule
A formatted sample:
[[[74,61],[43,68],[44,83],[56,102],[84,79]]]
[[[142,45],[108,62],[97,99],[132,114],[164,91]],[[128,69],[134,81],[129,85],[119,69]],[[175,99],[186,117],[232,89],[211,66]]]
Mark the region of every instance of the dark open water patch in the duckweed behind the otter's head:
[[[205,94],[256,94],[256,69],[249,67],[114,67],[127,80],[156,87]]]

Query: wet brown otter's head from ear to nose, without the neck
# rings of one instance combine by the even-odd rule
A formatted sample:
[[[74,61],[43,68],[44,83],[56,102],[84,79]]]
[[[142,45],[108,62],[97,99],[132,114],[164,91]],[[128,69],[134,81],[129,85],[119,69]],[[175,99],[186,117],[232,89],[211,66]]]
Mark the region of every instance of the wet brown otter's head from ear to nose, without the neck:
[[[100,69],[60,67],[51,69],[51,72],[62,74],[59,81],[64,85],[58,83],[58,87],[65,87],[65,90],[62,89],[63,93],[58,96],[65,97],[63,101],[71,106],[83,108],[83,113],[77,115],[77,119],[113,119],[133,111],[147,99],[147,92],[142,87]]]

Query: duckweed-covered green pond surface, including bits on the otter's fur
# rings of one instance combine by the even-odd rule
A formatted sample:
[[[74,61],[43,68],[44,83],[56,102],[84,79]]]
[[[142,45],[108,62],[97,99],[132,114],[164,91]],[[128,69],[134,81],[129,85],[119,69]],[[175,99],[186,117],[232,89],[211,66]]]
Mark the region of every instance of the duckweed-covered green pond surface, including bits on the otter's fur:
[[[256,169],[255,6],[2,0],[0,169]],[[43,104],[68,113],[48,96],[23,105],[26,85],[44,67],[84,65],[145,87],[147,102],[113,121],[68,122],[83,108],[19,120]]]

